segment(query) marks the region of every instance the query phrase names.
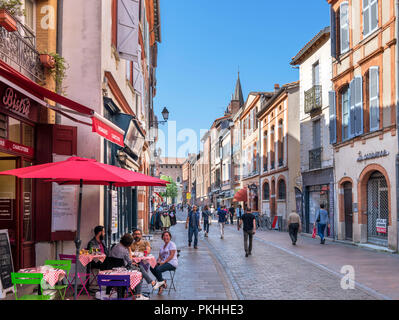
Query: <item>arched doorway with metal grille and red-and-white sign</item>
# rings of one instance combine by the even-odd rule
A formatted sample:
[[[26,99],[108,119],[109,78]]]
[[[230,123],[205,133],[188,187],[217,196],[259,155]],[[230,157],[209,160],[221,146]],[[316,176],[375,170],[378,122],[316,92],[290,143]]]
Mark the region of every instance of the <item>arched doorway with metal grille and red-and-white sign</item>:
[[[381,172],[374,172],[367,183],[367,238],[388,245],[388,184]]]

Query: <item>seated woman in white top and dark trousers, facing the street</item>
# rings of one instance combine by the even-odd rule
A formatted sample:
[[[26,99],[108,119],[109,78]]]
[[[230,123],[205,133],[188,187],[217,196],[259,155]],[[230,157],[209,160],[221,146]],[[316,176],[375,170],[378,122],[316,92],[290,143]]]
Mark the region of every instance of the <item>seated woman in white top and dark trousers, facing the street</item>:
[[[157,278],[158,282],[163,282],[162,273],[165,271],[173,271],[177,268],[177,248],[173,241],[171,241],[172,235],[169,231],[162,233],[162,240],[164,245],[159,249],[159,257],[155,268],[151,268],[151,272]],[[163,289],[166,288],[166,282],[163,284],[158,291],[158,294],[162,294]]]

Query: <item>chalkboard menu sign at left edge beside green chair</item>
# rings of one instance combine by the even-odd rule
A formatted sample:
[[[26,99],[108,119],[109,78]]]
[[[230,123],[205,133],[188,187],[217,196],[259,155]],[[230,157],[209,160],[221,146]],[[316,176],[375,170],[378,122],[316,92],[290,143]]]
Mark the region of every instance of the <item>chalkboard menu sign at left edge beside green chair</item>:
[[[10,240],[7,230],[0,230],[0,297],[13,288],[11,272],[14,272],[12,263]]]

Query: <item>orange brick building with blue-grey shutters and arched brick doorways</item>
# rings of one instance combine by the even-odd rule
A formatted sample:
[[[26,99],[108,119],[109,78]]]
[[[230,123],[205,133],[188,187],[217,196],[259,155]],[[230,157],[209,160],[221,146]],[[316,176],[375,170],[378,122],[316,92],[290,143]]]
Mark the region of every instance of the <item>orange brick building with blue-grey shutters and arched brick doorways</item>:
[[[336,234],[397,250],[395,1],[328,3]]]

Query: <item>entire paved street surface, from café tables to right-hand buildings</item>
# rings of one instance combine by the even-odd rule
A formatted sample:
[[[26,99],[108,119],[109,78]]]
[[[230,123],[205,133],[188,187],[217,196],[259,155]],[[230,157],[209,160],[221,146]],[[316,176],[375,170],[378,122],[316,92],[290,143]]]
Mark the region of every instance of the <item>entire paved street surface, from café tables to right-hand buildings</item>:
[[[173,241],[181,250],[175,278],[177,291],[172,290],[170,294],[165,291],[162,296],[154,292],[151,299],[373,300],[398,297],[398,290],[393,290],[397,280],[391,279],[388,285],[385,281],[388,279],[379,278],[378,272],[385,265],[385,270],[381,271],[392,274],[387,268],[399,264],[396,256],[331,242],[321,247],[317,240],[307,237],[301,237],[298,245],[290,248],[288,234],[258,231],[252,256],[246,258],[241,231],[237,231],[236,225],[226,225],[222,240],[216,220],[208,238],[200,233],[199,248],[195,250],[187,244],[185,217],[186,213],[179,212],[178,224],[170,229]],[[154,234],[154,254],[160,245],[158,231]],[[333,252],[334,256],[328,259],[328,254]],[[340,263],[353,263],[355,271],[359,272],[355,289],[341,288],[344,274],[339,273]],[[358,268],[356,263],[364,267]],[[374,277],[367,274],[369,264],[376,274]],[[365,274],[364,279],[362,274]]]

